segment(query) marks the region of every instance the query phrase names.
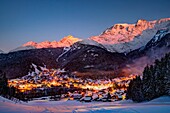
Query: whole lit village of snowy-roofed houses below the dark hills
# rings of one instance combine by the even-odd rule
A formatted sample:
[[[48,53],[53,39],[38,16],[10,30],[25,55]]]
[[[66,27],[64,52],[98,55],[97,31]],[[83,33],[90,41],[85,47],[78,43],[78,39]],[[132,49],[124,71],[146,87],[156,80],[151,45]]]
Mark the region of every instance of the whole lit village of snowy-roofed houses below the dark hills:
[[[126,90],[130,80],[136,75],[114,79],[81,79],[67,73],[64,69],[46,69],[39,71],[33,65],[35,72],[11,79],[9,87],[16,90],[16,98],[30,101],[34,99],[48,100],[78,100],[91,101],[117,101],[126,98]]]

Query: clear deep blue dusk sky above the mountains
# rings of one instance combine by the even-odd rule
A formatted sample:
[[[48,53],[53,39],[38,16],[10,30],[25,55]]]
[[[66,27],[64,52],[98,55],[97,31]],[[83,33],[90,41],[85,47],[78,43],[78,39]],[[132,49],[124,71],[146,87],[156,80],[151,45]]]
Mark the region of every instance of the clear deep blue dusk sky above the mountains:
[[[170,0],[0,0],[0,49],[88,38],[115,23],[170,17]]]

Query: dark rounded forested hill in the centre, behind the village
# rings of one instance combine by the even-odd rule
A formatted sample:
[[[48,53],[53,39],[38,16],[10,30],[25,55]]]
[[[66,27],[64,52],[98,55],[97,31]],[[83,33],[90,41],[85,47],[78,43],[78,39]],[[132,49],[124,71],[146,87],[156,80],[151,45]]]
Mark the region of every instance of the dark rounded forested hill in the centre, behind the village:
[[[108,52],[102,45],[96,46],[94,41],[89,42],[87,40],[73,44],[57,58],[61,68],[71,71],[83,71],[83,73],[87,71],[92,76],[107,73],[107,71],[114,72],[122,67],[126,60],[124,54]],[[107,74],[109,75],[109,73]],[[89,73],[88,75],[90,76]]]

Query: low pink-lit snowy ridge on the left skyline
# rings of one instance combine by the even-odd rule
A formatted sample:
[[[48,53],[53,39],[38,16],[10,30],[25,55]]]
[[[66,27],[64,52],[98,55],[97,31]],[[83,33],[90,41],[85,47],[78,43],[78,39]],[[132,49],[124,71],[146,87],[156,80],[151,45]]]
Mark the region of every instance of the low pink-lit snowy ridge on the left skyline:
[[[69,47],[77,41],[81,41],[79,38],[75,38],[71,35],[64,37],[59,42],[57,41],[44,41],[40,43],[36,43],[33,41],[27,42],[22,46],[11,50],[10,52],[20,51],[20,50],[28,50],[28,49],[39,49],[39,48],[57,48],[57,47]]]

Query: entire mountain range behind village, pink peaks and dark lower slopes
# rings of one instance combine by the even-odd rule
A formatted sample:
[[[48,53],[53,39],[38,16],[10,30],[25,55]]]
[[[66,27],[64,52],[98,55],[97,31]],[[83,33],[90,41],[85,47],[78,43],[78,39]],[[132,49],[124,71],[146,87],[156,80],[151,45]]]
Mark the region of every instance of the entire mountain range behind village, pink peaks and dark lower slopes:
[[[170,52],[170,18],[135,24],[115,24],[89,39],[67,36],[59,42],[28,42],[0,55],[8,78],[21,77],[32,63],[65,68],[82,77],[141,74],[147,64]]]

